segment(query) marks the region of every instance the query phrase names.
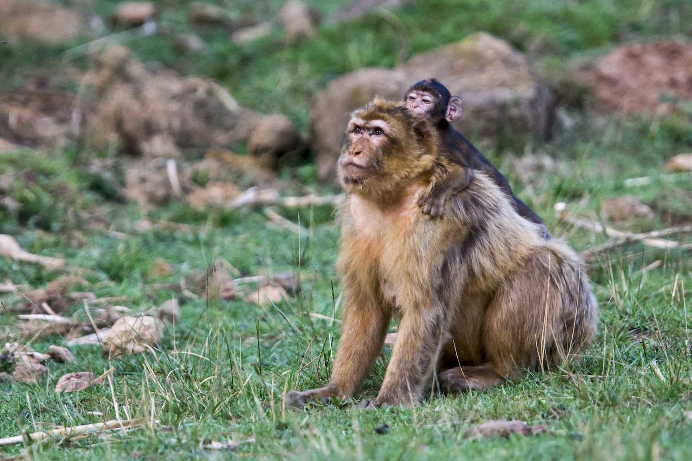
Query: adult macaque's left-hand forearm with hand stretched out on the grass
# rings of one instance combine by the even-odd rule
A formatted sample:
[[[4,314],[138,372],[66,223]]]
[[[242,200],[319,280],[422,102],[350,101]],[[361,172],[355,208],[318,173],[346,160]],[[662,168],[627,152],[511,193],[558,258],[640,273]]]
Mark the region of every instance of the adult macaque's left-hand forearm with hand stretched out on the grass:
[[[289,391],[284,395],[286,406],[302,407],[311,399],[326,401],[330,397],[352,397],[363,384],[365,375],[382,350],[391,309],[376,305],[365,292],[348,296],[343,314],[334,369],[325,387],[309,391]]]

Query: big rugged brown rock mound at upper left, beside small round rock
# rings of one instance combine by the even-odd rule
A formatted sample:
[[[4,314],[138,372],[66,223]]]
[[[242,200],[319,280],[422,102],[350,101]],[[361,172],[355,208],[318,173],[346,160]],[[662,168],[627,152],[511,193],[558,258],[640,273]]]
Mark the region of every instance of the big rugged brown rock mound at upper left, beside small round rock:
[[[86,126],[94,149],[174,157],[181,149],[230,147],[245,142],[261,118],[216,82],[145,67],[121,46],[94,53],[84,82],[97,108]]]

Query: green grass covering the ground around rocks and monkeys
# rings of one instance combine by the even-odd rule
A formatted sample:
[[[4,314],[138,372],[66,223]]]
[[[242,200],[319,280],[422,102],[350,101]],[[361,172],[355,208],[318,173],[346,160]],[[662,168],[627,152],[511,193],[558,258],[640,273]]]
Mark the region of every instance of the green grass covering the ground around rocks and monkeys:
[[[159,3],[166,7],[164,21],[188,30],[184,2]],[[96,4],[102,15],[114,5]],[[337,2],[320,5],[329,13]],[[273,15],[280,2],[246,1],[236,6],[239,12],[260,8],[254,11]],[[459,14],[444,15],[444,21],[437,23],[439,12],[446,10]],[[682,1],[440,0],[422,1],[396,10],[395,15],[406,30],[407,55],[473,30],[489,30],[522,50],[534,39],[549,39],[554,44],[550,57],[561,61],[630,38],[692,32],[692,11]],[[142,59],[160,60],[185,74],[220,79],[242,104],[266,112],[282,111],[303,129],[315,91],[336,75],[360,66],[393,66],[401,43],[397,28],[378,15],[324,26],[316,39],[295,47],[275,46],[275,35],[235,47],[222,28],[197,32],[209,44],[199,56],[179,54],[165,37],[128,45]],[[0,46],[0,60],[8,63],[0,69],[0,82],[6,88],[18,86],[25,75],[60,61],[60,53],[72,45]],[[518,196],[546,218],[552,234],[566,238],[580,251],[603,242],[602,235],[559,223],[552,207],[563,201],[575,214],[598,217],[603,198],[623,194],[635,195],[657,211],[657,220],[648,227],[664,227],[668,214],[684,222],[692,220],[692,177],[658,173],[666,158],[692,150],[689,116],[594,122],[578,107],[565,110],[581,122],[570,132],[557,133],[550,142],[486,149],[491,160],[508,173]],[[538,175],[531,182],[533,187],[521,182],[509,160],[526,151],[547,153],[558,165]],[[692,416],[686,413],[692,411],[689,252],[630,245],[594,263],[589,274],[601,308],[599,335],[568,368],[531,374],[486,392],[432,393],[413,409],[361,411],[356,400],[350,400],[288,411],[281,403],[284,390],[326,382],[338,344],[340,313],[335,312],[335,300],[339,284],[334,270],[338,227],[331,210],[281,209],[284,216],[296,223],[300,220],[307,229],[300,236],[267,227],[260,209],[200,213],[171,203],[145,214],[134,204],[119,203],[117,194],[93,177],[87,167],[89,155],[69,147],[0,157],[0,174],[13,173],[12,196],[19,202],[16,214],[0,208],[0,232],[15,236],[28,251],[62,256],[69,265],[81,267],[85,281],[73,290],[125,297],[122,304],[147,310],[172,296],[180,297],[174,285],[182,276],[224,258],[242,274],[299,272],[300,291],[266,308],[246,303],[242,297],[210,303],[181,299],[181,319],[167,328],[155,354],[109,360],[100,348],[82,346],[73,348],[75,364],[49,364],[49,377],[39,384],[0,382],[0,437],[48,424],[86,424],[115,417],[153,416],[161,421],[154,428],[127,433],[4,447],[0,456],[24,453],[41,460],[235,456],[686,460],[692,456]],[[281,174],[315,186],[309,164],[288,167]],[[638,176],[652,176],[653,182],[625,187],[626,178]],[[127,237],[89,227],[95,217]],[[137,232],[134,223],[146,217],[194,227],[192,232]],[[75,237],[77,231],[80,238]],[[171,265],[170,275],[154,273],[156,258]],[[650,268],[656,261],[660,262]],[[57,275],[0,257],[0,281],[10,279],[38,288]],[[11,308],[20,300],[8,295],[0,301]],[[12,326],[16,317],[2,306],[0,325]],[[79,303],[71,305],[69,313],[85,317]],[[310,313],[335,315],[335,320]],[[60,341],[52,337],[31,346],[44,350]],[[111,366],[116,371],[104,386],[73,394],[53,392],[64,373],[91,370],[98,375]],[[379,360],[363,397],[376,395],[384,373],[385,365]],[[89,411],[103,416],[89,415]],[[541,424],[547,433],[508,440],[468,438],[473,424],[492,419]],[[382,424],[390,431],[375,433],[374,428]],[[255,442],[239,444],[235,453],[201,449],[212,440],[251,438]]]

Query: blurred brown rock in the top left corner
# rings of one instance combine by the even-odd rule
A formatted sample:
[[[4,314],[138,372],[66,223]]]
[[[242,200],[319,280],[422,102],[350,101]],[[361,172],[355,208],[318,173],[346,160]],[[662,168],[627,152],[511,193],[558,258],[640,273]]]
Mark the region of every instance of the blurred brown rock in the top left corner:
[[[86,29],[76,10],[41,0],[0,1],[0,36],[58,44],[73,40]]]

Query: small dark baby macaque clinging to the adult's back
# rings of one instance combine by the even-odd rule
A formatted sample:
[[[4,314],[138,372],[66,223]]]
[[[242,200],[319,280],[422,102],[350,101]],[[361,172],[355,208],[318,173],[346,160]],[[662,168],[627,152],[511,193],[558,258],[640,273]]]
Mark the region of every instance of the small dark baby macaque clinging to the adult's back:
[[[462,100],[459,97],[452,96],[446,86],[436,79],[428,79],[413,84],[406,91],[404,101],[410,111],[428,117],[437,128],[443,146],[441,153],[451,163],[446,171],[439,169],[437,175],[432,178],[433,187],[430,194],[421,198],[419,205],[423,207],[425,214],[441,216],[445,200],[468,187],[471,182],[469,171],[480,170],[507,194],[520,216],[543,226],[547,236],[543,219],[516,198],[502,173],[450,124],[462,115]]]

